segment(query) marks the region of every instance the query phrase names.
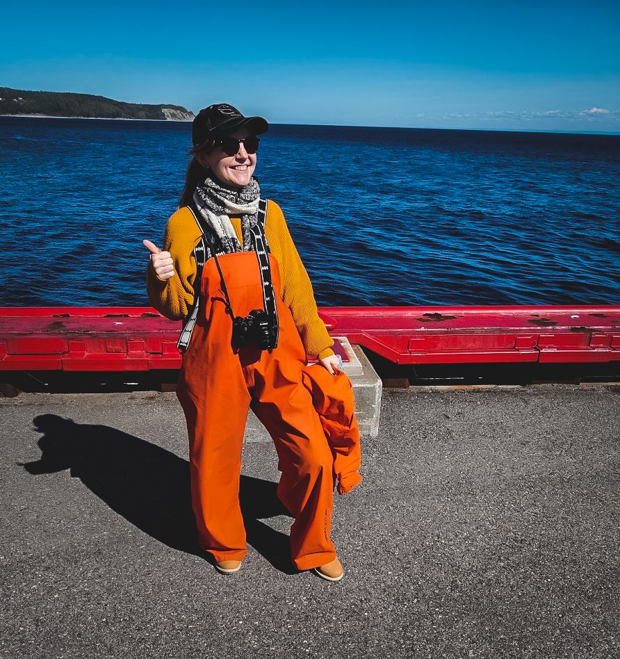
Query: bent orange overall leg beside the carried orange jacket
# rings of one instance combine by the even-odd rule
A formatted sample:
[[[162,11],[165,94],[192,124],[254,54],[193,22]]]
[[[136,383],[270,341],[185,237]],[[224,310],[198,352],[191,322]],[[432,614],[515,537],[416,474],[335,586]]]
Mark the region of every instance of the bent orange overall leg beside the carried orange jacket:
[[[274,440],[282,468],[278,496],[295,517],[293,562],[300,570],[329,563],[336,558],[330,539],[333,457],[311,395],[301,384],[299,364],[270,360],[255,375],[254,396],[254,412]]]

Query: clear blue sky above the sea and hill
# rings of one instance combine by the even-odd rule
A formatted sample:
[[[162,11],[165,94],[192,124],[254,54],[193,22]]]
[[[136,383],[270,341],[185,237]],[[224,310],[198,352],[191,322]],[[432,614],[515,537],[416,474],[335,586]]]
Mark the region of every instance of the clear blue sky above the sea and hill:
[[[3,1],[0,86],[270,122],[620,131],[620,1]]]

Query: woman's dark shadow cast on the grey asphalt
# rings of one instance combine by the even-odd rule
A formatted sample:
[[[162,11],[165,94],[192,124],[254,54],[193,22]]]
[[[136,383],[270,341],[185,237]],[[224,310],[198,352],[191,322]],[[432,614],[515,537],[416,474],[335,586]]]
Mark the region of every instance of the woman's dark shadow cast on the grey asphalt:
[[[43,436],[41,457],[19,463],[32,475],[71,470],[74,478],[127,521],[169,547],[209,560],[198,546],[190,496],[189,463],[165,448],[107,425],[74,423],[42,414],[33,423]],[[240,504],[247,542],[274,567],[292,574],[288,535],[261,519],[288,515],[276,484],[242,475]]]

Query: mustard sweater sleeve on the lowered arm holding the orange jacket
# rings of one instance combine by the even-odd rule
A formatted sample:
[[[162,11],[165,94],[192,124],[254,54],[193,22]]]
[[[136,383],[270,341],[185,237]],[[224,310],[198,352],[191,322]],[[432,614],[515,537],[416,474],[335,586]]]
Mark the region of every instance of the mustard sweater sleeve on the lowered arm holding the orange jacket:
[[[318,315],[314,291],[282,209],[269,202],[265,232],[282,274],[282,300],[291,309],[297,331],[309,357],[323,359],[334,354],[334,340]]]

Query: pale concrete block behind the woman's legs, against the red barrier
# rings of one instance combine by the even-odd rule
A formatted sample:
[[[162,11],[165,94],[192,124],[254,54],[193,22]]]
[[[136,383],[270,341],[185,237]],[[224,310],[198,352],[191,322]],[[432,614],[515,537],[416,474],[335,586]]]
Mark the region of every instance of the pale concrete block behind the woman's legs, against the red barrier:
[[[381,378],[359,345],[351,345],[345,337],[337,338],[349,358],[349,361],[343,364],[343,371],[349,376],[353,385],[355,416],[359,423],[359,432],[364,437],[377,437],[381,412]],[[268,432],[252,410],[247,416],[245,441],[271,441]]]

